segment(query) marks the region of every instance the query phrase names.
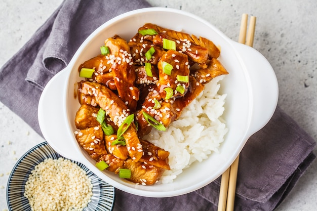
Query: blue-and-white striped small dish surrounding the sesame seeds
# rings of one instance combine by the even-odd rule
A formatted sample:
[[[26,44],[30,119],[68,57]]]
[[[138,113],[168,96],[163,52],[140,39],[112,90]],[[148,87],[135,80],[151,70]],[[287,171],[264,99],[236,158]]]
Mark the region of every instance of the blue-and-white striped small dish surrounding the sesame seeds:
[[[62,156],[55,152],[47,142],[43,142],[30,149],[19,159],[11,172],[7,185],[7,202],[9,210],[31,210],[28,199],[23,195],[24,186],[31,171],[34,169],[35,165],[45,159],[57,159],[59,157]],[[93,196],[91,202],[84,208],[84,211],[111,211],[113,209],[115,198],[114,187],[101,180],[82,163],[76,161],[72,162],[83,168],[93,184]]]

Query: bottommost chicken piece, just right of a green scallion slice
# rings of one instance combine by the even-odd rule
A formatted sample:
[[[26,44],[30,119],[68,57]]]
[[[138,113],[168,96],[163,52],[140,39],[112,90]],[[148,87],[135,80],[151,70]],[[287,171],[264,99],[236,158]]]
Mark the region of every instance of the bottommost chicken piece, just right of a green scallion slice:
[[[123,168],[131,170],[131,178],[128,179],[129,181],[142,185],[153,185],[161,178],[164,172],[163,168],[145,164],[140,161],[134,162],[131,159],[125,161]]]

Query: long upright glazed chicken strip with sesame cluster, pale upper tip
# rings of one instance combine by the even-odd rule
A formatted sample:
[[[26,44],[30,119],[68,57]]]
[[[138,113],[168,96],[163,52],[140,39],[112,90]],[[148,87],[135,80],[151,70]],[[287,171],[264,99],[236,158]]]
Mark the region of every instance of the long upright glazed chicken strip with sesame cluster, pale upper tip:
[[[127,102],[133,112],[139,100],[139,90],[135,87],[135,70],[127,41],[118,35],[105,40],[110,50],[111,70],[118,95]]]

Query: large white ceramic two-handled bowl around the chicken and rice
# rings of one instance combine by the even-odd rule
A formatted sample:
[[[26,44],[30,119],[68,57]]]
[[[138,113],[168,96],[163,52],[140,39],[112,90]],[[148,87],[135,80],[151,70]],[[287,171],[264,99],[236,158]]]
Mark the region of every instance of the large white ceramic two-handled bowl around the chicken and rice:
[[[134,185],[107,171],[77,144],[74,116],[80,107],[74,98],[80,81],[77,68],[99,54],[104,40],[118,34],[129,40],[145,23],[204,36],[221,47],[219,60],[229,74],[221,82],[227,94],[224,119],[229,129],[220,152],[195,162],[172,184]],[[49,81],[38,107],[39,125],[47,142],[61,155],[84,163],[92,172],[114,187],[148,197],[170,197],[189,193],[211,183],[230,166],[248,138],[271,118],[278,101],[278,82],[268,61],[256,50],[236,43],[200,17],[168,8],[146,8],[117,16],[96,29],[75,53],[69,65]]]

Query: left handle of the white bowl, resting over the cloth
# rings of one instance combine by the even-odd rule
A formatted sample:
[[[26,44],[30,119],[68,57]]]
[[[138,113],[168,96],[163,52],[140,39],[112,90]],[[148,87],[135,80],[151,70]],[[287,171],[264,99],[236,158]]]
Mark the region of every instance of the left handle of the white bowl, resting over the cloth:
[[[78,162],[77,147],[73,146],[73,139],[66,130],[64,119],[64,100],[61,93],[64,93],[67,86],[67,75],[69,70],[58,72],[44,88],[38,103],[38,122],[42,134],[49,145],[60,155]],[[72,150],[69,150],[72,149]],[[77,159],[75,159],[77,158]]]

